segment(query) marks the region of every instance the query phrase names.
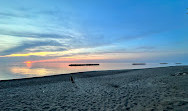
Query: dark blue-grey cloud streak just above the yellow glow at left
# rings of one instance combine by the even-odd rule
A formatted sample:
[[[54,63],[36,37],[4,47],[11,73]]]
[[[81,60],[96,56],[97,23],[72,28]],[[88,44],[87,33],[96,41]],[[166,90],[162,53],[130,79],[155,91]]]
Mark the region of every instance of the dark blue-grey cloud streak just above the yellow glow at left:
[[[3,51],[1,52],[1,55],[15,54],[15,53],[23,52],[29,48],[35,48],[38,46],[49,46],[49,45],[50,46],[63,46],[59,42],[52,41],[52,40],[51,41],[29,41],[29,42],[22,43],[19,46]],[[66,49],[61,48],[61,50],[66,50]]]

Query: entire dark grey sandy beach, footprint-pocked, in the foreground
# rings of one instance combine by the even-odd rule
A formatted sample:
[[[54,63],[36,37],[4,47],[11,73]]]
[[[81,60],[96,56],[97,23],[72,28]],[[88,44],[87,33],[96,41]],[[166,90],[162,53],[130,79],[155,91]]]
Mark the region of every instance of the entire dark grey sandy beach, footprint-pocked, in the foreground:
[[[188,66],[92,71],[0,82],[0,110],[186,111]]]

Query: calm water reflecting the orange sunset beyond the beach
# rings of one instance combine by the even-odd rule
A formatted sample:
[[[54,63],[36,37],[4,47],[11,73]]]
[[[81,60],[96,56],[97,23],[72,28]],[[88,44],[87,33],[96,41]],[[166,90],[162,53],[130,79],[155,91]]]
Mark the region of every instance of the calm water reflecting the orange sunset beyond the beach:
[[[147,63],[132,65],[132,63],[100,63],[99,66],[68,66],[71,63],[7,63],[0,65],[0,80],[39,77],[73,72],[94,70],[140,69],[151,67],[175,66],[177,64]],[[185,65],[185,64],[181,64]]]

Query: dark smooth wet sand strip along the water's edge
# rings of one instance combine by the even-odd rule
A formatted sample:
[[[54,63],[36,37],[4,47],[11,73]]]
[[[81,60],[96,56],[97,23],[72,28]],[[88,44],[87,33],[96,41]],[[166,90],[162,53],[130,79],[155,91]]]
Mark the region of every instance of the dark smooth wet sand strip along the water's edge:
[[[9,88],[9,87],[20,87],[20,86],[26,86],[26,85],[41,85],[41,84],[48,84],[48,83],[56,83],[59,81],[70,81],[71,76],[73,76],[74,78],[88,78],[88,77],[114,75],[114,74],[126,73],[129,71],[136,71],[136,70],[170,68],[170,67],[186,67],[186,66],[188,65],[152,67],[152,68],[141,68],[141,69],[98,70],[98,71],[74,72],[74,73],[67,73],[67,74],[55,74],[55,75],[47,75],[47,76],[41,76],[41,77],[28,77],[28,78],[18,78],[18,79],[10,79],[10,80],[0,80],[0,84],[1,84],[0,89]],[[108,72],[111,72],[111,73],[108,73]]]

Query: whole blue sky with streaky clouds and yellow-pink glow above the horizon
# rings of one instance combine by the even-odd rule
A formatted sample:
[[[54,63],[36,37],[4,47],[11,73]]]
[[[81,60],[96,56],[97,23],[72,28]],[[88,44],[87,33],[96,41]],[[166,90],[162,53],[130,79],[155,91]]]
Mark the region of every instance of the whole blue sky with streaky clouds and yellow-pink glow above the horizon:
[[[187,62],[187,0],[0,0],[0,62]]]

